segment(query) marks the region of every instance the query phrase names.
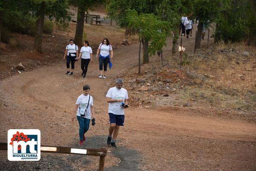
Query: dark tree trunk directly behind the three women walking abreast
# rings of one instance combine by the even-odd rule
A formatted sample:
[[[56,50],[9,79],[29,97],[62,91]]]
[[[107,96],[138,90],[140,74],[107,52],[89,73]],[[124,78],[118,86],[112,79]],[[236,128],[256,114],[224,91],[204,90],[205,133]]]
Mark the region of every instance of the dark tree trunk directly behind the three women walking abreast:
[[[75,43],[76,43],[76,45],[78,45],[80,47],[83,43],[84,12],[85,12],[85,4],[84,4],[84,6],[79,6],[79,8],[77,10]]]

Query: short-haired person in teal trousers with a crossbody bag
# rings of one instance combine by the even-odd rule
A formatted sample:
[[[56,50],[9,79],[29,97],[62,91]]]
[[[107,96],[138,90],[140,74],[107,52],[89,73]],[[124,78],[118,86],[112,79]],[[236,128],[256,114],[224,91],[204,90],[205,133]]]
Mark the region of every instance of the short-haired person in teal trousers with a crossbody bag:
[[[90,125],[90,119],[94,119],[93,97],[89,95],[90,86],[84,85],[84,93],[76,100],[76,107],[74,113],[79,122],[79,137],[78,145],[83,145],[85,141],[84,133],[87,132]]]

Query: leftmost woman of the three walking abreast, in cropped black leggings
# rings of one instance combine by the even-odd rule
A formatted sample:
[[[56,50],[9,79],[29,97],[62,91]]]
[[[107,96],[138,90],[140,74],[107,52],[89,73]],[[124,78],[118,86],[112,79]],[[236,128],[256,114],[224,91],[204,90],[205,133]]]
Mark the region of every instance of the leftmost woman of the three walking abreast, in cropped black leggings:
[[[66,51],[63,59],[67,58],[67,73],[66,75],[73,75],[75,69],[75,61],[78,56],[78,46],[75,44],[73,39],[70,39],[70,44],[66,46]],[[70,62],[71,62],[71,72],[70,72]]]

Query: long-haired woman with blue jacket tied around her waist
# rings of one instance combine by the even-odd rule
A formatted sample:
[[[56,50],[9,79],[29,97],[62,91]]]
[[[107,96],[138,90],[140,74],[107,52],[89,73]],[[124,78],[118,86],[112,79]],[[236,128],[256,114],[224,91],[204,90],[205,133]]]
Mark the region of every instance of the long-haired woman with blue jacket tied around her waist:
[[[99,48],[97,50],[96,58],[99,58],[99,78],[106,78],[105,72],[107,72],[107,67],[109,64],[109,69],[112,67],[112,63],[110,61],[113,58],[113,49],[108,39],[103,39],[102,43],[100,43]],[[104,76],[102,74],[102,66],[104,64]]]

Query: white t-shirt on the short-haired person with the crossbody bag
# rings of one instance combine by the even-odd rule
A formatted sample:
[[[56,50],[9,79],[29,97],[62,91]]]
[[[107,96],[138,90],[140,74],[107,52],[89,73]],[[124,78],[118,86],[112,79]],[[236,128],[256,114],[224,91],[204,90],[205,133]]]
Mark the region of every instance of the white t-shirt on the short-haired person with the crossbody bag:
[[[89,100],[89,96],[90,95],[84,96],[84,94],[81,94],[77,98],[76,104],[79,104],[80,108],[86,109],[87,104],[88,104],[88,100]],[[90,119],[90,106],[93,106],[93,97],[92,96],[90,96],[90,102],[89,102],[89,106],[88,106],[88,109],[87,109],[87,113],[86,113],[85,116],[82,116],[82,117]],[[80,113],[79,113],[79,107],[76,110],[76,116],[81,116]]]

